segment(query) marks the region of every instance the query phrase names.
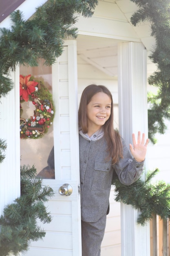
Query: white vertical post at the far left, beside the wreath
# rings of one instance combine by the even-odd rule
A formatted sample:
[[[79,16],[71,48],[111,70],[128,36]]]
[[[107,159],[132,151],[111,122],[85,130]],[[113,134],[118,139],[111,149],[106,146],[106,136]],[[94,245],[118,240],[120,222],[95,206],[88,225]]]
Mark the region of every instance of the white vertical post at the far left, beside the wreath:
[[[0,164],[0,215],[7,204],[20,196],[20,74],[11,72],[14,88],[0,99],[0,138],[7,143]]]

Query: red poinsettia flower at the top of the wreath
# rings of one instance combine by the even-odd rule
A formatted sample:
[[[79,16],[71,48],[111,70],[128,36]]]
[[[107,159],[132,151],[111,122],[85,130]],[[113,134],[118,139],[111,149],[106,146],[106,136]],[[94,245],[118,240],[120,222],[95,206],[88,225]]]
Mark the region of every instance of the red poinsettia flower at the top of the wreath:
[[[22,96],[24,101],[29,100],[29,95],[35,91],[35,86],[38,85],[35,81],[29,81],[30,77],[31,75],[20,75],[20,96]]]

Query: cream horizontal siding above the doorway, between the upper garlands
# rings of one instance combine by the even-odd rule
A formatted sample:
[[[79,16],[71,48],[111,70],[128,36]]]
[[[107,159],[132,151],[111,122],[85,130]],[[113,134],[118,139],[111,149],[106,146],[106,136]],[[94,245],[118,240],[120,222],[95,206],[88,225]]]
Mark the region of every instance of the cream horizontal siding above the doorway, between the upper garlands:
[[[119,8],[119,2],[122,2],[125,8],[130,4],[128,0],[99,1],[92,18],[86,19],[80,16],[77,23],[79,34],[140,42],[136,32]],[[132,3],[132,5],[135,4]]]

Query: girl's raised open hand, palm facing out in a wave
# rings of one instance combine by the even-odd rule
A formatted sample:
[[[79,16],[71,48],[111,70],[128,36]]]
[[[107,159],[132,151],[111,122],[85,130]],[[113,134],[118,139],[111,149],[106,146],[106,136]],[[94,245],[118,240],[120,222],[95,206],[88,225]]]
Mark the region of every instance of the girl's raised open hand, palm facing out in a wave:
[[[136,143],[134,133],[132,134],[132,141],[133,141],[133,146],[132,144],[129,144],[130,152],[132,156],[135,158],[137,162],[144,161],[149,139],[146,139],[146,143],[145,143],[145,134],[144,133],[142,134],[142,139],[141,139],[141,132],[138,132],[137,143]]]

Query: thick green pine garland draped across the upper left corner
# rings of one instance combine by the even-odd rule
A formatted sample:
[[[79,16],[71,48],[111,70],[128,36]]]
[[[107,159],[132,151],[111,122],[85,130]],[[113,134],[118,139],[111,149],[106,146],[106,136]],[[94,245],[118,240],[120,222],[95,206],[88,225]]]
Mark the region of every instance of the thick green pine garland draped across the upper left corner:
[[[36,9],[32,19],[24,20],[21,11],[11,13],[11,29],[0,29],[0,96],[13,87],[8,78],[15,65],[38,66],[55,63],[62,54],[64,39],[76,38],[77,15],[91,17],[97,0],[49,0]]]

